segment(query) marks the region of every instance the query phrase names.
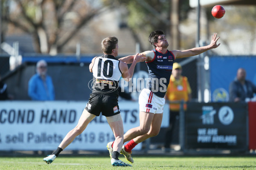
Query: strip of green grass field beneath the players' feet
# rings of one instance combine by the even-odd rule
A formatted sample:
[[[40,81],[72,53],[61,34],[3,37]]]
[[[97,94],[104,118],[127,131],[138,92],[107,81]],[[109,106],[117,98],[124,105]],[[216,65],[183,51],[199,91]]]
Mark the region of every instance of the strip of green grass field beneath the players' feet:
[[[123,156],[119,158],[128,163]],[[52,164],[46,164],[43,157],[0,157],[0,170],[256,170],[256,156],[134,156],[132,165],[113,167],[107,156],[60,155]]]

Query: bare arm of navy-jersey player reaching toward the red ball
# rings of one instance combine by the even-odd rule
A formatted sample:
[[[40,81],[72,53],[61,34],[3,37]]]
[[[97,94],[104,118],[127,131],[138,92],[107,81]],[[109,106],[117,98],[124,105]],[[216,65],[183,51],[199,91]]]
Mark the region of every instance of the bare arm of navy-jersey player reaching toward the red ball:
[[[205,51],[208,51],[212,48],[217,48],[220,45],[220,43],[217,44],[217,41],[219,38],[220,37],[217,38],[217,33],[214,33],[212,35],[212,41],[209,45],[206,45],[203,47],[191,48],[189,50],[183,50],[183,51],[173,50],[172,53],[175,55],[175,59],[195,56],[195,55],[201,54]]]

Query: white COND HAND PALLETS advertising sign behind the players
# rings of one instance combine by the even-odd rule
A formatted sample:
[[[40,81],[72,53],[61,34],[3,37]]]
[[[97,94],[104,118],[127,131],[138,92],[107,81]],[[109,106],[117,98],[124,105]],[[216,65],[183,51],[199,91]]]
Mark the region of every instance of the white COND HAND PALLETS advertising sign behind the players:
[[[55,150],[78,123],[87,101],[0,102],[0,150]],[[119,102],[124,131],[140,125],[138,102]],[[165,105],[162,126],[169,122]],[[114,140],[105,116],[96,116],[65,150],[106,150]],[[135,150],[141,149],[138,144]]]

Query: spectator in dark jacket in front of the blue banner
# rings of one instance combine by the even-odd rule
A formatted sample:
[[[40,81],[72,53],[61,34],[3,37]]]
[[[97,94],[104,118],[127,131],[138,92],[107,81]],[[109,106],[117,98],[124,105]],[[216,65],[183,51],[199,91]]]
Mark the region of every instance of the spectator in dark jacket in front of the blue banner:
[[[256,86],[245,78],[246,71],[239,68],[236,79],[229,86],[230,102],[244,102],[246,98],[253,98],[253,94],[256,94]]]

